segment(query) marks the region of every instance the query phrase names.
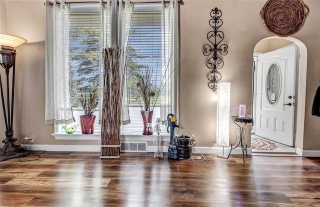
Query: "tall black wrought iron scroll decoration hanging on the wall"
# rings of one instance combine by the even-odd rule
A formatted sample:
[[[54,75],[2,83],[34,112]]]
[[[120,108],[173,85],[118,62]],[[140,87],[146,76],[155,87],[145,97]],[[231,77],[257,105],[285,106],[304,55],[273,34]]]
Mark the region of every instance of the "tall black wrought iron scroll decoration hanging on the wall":
[[[206,34],[206,38],[211,42],[212,46],[205,44],[203,46],[203,54],[209,56],[210,58],[206,61],[206,66],[210,69],[210,72],[207,74],[209,79],[208,86],[213,91],[217,89],[217,83],[221,80],[221,74],[218,72],[218,69],[223,67],[223,60],[221,55],[226,55],[228,53],[226,44],[220,44],[224,38],[224,33],[219,30],[222,25],[222,12],[220,9],[215,7],[211,10],[210,16],[212,17],[209,20],[209,25],[213,28],[212,31],[209,31]]]

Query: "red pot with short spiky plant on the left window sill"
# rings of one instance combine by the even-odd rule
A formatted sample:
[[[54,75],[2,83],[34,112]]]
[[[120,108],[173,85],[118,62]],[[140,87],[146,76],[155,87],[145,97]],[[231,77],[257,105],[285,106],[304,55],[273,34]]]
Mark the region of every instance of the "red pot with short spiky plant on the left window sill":
[[[80,88],[80,102],[84,115],[80,115],[80,125],[82,134],[92,134],[94,133],[94,120],[95,115],[93,115],[96,106],[98,105],[98,98],[96,89],[92,90],[92,93],[82,93],[82,88]]]

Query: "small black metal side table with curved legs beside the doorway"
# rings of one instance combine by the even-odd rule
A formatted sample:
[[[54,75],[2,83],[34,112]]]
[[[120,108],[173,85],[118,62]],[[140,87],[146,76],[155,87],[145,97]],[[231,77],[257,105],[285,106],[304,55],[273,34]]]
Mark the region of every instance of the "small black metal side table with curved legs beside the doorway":
[[[244,134],[245,134],[244,126],[247,123],[252,123],[253,118],[239,117],[237,115],[232,115],[231,117],[232,117],[233,123],[235,123],[238,126],[238,128],[235,129],[235,141],[234,141],[234,143],[231,143],[231,149],[230,149],[229,155],[230,155],[232,149],[236,148],[241,143],[241,150],[242,150],[242,154],[243,154],[243,163],[245,163],[244,162],[244,151],[245,151],[246,156],[248,156],[248,154],[246,153],[246,143],[244,141]],[[240,126],[240,124],[237,124],[236,122],[244,123],[244,124],[242,126]],[[239,140],[239,143],[235,147],[232,147],[232,145],[235,145],[237,140]]]

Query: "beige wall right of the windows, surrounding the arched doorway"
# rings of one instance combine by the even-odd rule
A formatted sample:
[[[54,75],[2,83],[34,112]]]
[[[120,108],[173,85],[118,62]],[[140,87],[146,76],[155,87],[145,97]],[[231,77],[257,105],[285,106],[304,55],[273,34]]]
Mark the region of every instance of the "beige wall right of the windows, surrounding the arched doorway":
[[[255,44],[267,36],[259,11],[265,1],[251,0],[185,0],[180,6],[180,48],[181,67],[180,88],[180,125],[200,137],[199,142],[212,143],[215,138],[216,96],[208,91],[206,85],[206,57],[202,46],[208,43],[206,33],[209,11],[218,7],[222,10],[222,31],[224,42],[228,44],[228,54],[223,57],[221,69],[222,81],[231,82],[231,114],[237,113],[238,104],[250,106],[252,52]],[[303,27],[293,37],[302,41],[308,50],[306,108],[303,145],[304,150],[320,149],[320,117],[311,116],[313,97],[320,85],[320,70],[315,61],[320,55],[319,40],[320,1],[304,1],[310,7],[310,13]],[[239,12],[240,11],[240,12]],[[193,15],[190,15],[193,14]],[[272,45],[271,45],[272,46]],[[188,101],[188,100],[192,101]],[[234,141],[234,124],[230,123],[230,139]],[[248,135],[248,134],[247,134]]]

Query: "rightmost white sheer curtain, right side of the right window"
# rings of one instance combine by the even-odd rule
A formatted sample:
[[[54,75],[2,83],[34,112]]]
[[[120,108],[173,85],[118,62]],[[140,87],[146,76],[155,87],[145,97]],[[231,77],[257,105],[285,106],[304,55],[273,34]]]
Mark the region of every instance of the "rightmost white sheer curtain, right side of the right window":
[[[167,120],[168,113],[177,110],[177,74],[178,74],[178,1],[170,0],[162,4],[161,37],[161,76],[168,80],[161,91],[160,119]],[[173,84],[175,83],[175,84]]]

